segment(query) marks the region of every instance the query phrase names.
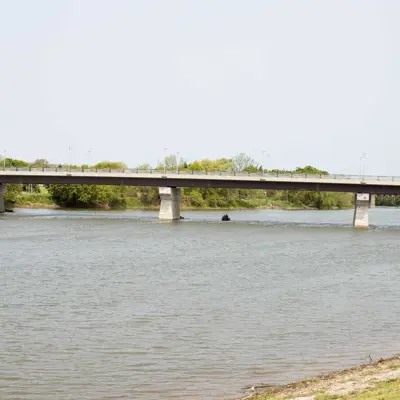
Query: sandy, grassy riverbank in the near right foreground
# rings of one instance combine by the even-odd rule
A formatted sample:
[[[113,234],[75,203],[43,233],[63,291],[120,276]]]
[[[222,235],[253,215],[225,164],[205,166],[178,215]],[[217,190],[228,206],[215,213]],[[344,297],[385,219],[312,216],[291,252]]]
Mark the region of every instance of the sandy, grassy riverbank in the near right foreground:
[[[400,356],[285,386],[247,389],[241,400],[400,400]]]

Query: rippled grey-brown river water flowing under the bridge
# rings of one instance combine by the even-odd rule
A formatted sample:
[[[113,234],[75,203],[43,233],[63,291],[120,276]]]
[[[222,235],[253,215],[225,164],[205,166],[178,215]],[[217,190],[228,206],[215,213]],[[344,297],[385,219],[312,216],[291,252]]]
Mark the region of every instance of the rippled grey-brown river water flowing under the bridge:
[[[0,217],[0,398],[226,399],[400,351],[400,210]]]

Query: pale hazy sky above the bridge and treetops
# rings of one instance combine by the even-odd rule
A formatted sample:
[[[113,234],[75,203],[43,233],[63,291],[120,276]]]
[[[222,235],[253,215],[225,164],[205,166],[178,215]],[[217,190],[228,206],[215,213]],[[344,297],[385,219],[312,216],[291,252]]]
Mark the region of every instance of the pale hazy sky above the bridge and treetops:
[[[0,0],[0,151],[400,175],[399,21],[398,0]]]

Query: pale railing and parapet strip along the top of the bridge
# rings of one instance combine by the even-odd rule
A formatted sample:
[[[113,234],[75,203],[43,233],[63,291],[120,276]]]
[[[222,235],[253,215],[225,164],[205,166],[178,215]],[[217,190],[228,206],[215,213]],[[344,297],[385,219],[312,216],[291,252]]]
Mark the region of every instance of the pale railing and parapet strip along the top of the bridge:
[[[43,172],[43,173],[102,173],[102,174],[151,174],[157,176],[165,175],[196,175],[196,176],[238,176],[238,177],[259,177],[259,178],[294,178],[294,179],[331,179],[331,180],[350,180],[358,182],[368,181],[400,181],[396,176],[373,176],[373,175],[345,175],[345,174],[295,174],[280,172],[236,172],[236,171],[191,171],[191,170],[160,170],[160,169],[110,169],[110,168],[56,168],[56,167],[22,167],[22,168],[0,168],[1,172]]]

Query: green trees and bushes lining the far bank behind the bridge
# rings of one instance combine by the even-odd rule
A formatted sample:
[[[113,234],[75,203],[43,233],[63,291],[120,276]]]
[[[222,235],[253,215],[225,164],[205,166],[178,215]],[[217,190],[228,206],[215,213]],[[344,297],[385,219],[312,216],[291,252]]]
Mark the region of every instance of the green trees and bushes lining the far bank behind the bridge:
[[[82,168],[127,169],[123,162],[103,161],[95,165],[52,164],[45,159],[27,162],[12,158],[1,159],[0,165],[8,168],[68,168],[71,171]],[[192,171],[228,171],[250,173],[293,173],[327,175],[327,171],[310,165],[295,170],[265,169],[250,156],[240,153],[232,158],[216,160],[202,159],[187,162],[175,155],[164,158],[156,167],[149,164],[135,168],[148,170]],[[5,194],[6,208],[64,208],[64,209],[142,209],[156,210],[160,205],[158,188],[134,186],[104,185],[7,185]],[[400,197],[378,197],[377,205],[400,205]],[[382,204],[381,204],[382,203]],[[330,193],[296,190],[257,190],[257,189],[212,189],[181,188],[182,210],[342,210],[352,208],[352,193]]]

